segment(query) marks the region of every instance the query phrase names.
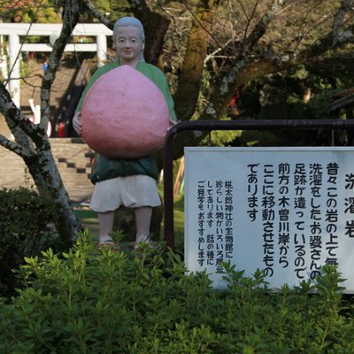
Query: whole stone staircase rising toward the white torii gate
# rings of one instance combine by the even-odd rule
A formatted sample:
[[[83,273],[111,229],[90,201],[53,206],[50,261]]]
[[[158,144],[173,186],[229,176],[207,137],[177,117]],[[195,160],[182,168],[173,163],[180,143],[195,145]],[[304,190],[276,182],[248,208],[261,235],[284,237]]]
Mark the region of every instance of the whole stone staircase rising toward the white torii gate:
[[[80,59],[81,61],[81,59]],[[28,99],[34,99],[35,104],[40,104],[40,89],[42,84],[42,62],[30,60],[28,63],[28,75],[25,81],[21,81],[21,112],[27,116],[33,115]],[[70,89],[70,85],[80,65],[78,58],[66,55],[60,62],[56,79],[50,91],[50,114],[52,122],[52,136],[56,135],[55,123],[59,116],[67,112],[68,103],[63,103],[63,97]],[[83,66],[83,68],[82,68]],[[83,71],[85,73],[83,73]],[[89,78],[89,67],[81,65],[80,77],[73,82],[73,86],[79,86],[82,81]],[[84,74],[85,77],[82,77]],[[73,101],[73,97],[69,97]],[[70,104],[71,102],[69,102]],[[63,107],[65,105],[65,107]],[[67,123],[67,122],[66,122]],[[0,114],[0,134],[11,138],[3,116]],[[71,136],[71,135],[70,135]],[[50,138],[50,145],[53,156],[58,165],[65,189],[74,204],[85,204],[89,202],[93,184],[89,181],[90,165],[94,152],[82,141],[81,138]],[[0,188],[19,188],[19,186],[30,188],[34,181],[27,172],[27,166],[22,158],[15,153],[0,146]]]

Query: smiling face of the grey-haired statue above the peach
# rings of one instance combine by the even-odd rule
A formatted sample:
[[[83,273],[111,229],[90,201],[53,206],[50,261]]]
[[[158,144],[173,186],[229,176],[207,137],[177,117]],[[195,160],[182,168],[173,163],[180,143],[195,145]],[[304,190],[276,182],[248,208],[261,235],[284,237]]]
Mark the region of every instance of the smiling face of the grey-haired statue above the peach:
[[[120,64],[135,66],[138,63],[144,46],[138,28],[118,27],[114,44]]]

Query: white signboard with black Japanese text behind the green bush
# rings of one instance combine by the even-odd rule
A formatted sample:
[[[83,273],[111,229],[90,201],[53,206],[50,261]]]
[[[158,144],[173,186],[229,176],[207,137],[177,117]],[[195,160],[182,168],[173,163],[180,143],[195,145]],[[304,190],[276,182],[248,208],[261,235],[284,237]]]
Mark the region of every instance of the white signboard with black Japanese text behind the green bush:
[[[231,261],[276,289],[332,264],[354,292],[353,148],[186,148],[185,163],[190,272],[222,289]]]

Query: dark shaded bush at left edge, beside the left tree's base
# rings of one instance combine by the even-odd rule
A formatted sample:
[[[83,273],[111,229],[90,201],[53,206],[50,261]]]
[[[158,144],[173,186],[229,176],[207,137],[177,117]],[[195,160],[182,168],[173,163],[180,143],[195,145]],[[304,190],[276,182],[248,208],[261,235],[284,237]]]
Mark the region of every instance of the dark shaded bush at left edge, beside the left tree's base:
[[[47,250],[56,241],[55,207],[49,197],[33,189],[0,189],[0,295],[16,286],[12,269],[25,256]]]

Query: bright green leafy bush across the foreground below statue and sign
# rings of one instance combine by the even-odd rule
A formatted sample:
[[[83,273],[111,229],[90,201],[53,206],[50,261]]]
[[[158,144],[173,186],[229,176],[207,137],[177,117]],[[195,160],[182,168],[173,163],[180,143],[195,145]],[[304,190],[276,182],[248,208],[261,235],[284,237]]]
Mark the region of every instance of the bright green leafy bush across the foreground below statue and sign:
[[[26,289],[0,302],[1,353],[353,353],[353,308],[340,275],[267,289],[225,265],[229,288],[185,275],[171,250],[98,254],[84,233],[60,257],[27,258]]]

